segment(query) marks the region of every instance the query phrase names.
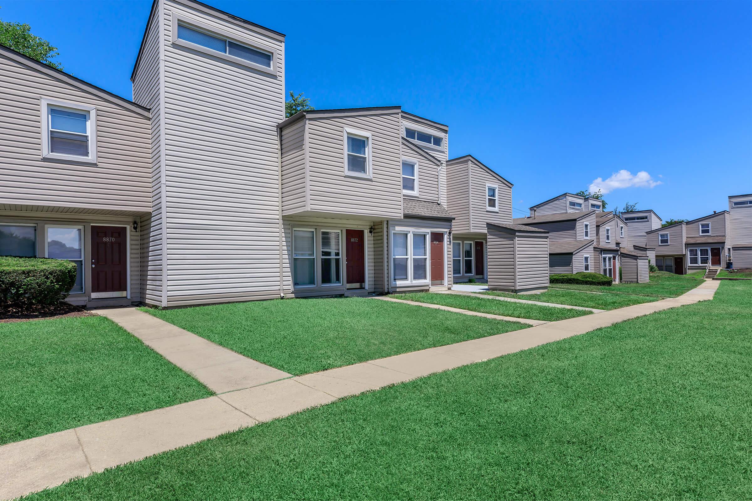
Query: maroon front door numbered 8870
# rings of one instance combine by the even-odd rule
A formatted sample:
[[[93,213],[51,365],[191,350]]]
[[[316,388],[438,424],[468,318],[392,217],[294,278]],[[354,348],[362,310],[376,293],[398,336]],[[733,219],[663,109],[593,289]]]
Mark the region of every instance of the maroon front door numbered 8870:
[[[92,297],[125,297],[127,228],[92,226]]]

